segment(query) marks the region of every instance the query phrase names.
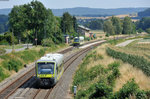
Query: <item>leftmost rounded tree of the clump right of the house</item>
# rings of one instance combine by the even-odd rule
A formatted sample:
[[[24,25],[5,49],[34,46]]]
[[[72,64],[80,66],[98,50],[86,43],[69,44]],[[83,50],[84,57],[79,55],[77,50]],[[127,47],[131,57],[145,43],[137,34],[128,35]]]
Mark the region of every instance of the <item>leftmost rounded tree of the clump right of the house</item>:
[[[112,25],[112,22],[110,20],[107,20],[104,22],[104,32],[106,32],[108,35],[114,35],[114,27]]]

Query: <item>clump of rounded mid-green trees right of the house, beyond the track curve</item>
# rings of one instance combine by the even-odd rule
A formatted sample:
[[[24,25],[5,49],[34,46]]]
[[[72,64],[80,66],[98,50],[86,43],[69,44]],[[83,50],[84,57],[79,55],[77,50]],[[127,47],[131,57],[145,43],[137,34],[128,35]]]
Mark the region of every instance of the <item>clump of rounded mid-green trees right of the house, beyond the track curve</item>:
[[[123,20],[112,16],[104,22],[103,30],[107,36],[115,34],[134,34],[136,26],[131,21],[130,17],[125,17]]]

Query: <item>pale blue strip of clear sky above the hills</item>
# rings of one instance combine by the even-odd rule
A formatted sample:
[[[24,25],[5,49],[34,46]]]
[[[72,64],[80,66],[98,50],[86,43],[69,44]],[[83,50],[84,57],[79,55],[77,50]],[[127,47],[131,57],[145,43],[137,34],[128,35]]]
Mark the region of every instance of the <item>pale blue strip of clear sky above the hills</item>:
[[[32,0],[0,0],[1,8],[12,8],[14,5],[29,3]],[[38,0],[47,8],[127,8],[150,7],[150,0]]]

